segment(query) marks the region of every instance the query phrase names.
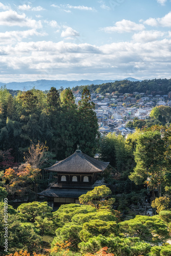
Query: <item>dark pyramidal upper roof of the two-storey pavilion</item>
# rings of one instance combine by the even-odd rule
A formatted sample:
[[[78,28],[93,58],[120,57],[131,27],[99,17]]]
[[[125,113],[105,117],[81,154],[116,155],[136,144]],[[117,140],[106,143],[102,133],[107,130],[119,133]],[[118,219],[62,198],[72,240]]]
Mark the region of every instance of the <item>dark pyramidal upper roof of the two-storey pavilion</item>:
[[[102,172],[109,162],[96,160],[80,150],[76,150],[74,154],[64,160],[56,162],[46,170],[57,173],[98,173]]]

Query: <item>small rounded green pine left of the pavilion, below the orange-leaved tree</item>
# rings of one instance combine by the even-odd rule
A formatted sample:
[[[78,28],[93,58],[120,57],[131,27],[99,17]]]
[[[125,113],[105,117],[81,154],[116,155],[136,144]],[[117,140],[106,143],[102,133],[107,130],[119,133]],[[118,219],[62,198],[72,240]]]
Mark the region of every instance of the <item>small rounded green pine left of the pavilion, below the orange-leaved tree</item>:
[[[17,211],[22,213],[30,222],[34,222],[35,218],[51,216],[50,212],[52,207],[48,206],[47,202],[32,202],[26,204],[20,204],[17,208]]]

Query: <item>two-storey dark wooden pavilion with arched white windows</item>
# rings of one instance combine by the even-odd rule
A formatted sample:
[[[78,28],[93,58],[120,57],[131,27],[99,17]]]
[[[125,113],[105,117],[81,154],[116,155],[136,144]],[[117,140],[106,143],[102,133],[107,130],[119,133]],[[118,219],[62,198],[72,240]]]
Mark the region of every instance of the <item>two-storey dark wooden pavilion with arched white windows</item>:
[[[103,179],[98,179],[98,174],[108,165],[109,162],[96,160],[76,150],[73,155],[57,161],[46,169],[55,174],[56,180],[38,195],[53,200],[53,206],[79,203],[78,198],[82,194],[86,194],[95,186],[102,185]]]

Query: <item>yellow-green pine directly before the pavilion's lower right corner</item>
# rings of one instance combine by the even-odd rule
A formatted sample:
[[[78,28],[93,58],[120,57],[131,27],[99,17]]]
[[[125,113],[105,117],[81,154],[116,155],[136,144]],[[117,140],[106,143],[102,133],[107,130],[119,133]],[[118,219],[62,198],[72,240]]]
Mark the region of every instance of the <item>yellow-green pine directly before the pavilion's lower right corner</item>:
[[[109,198],[111,194],[112,191],[108,187],[104,185],[97,186],[93,190],[88,191],[87,194],[81,195],[79,202],[81,204],[92,205],[96,208],[103,205],[112,205],[115,202],[115,198]]]

